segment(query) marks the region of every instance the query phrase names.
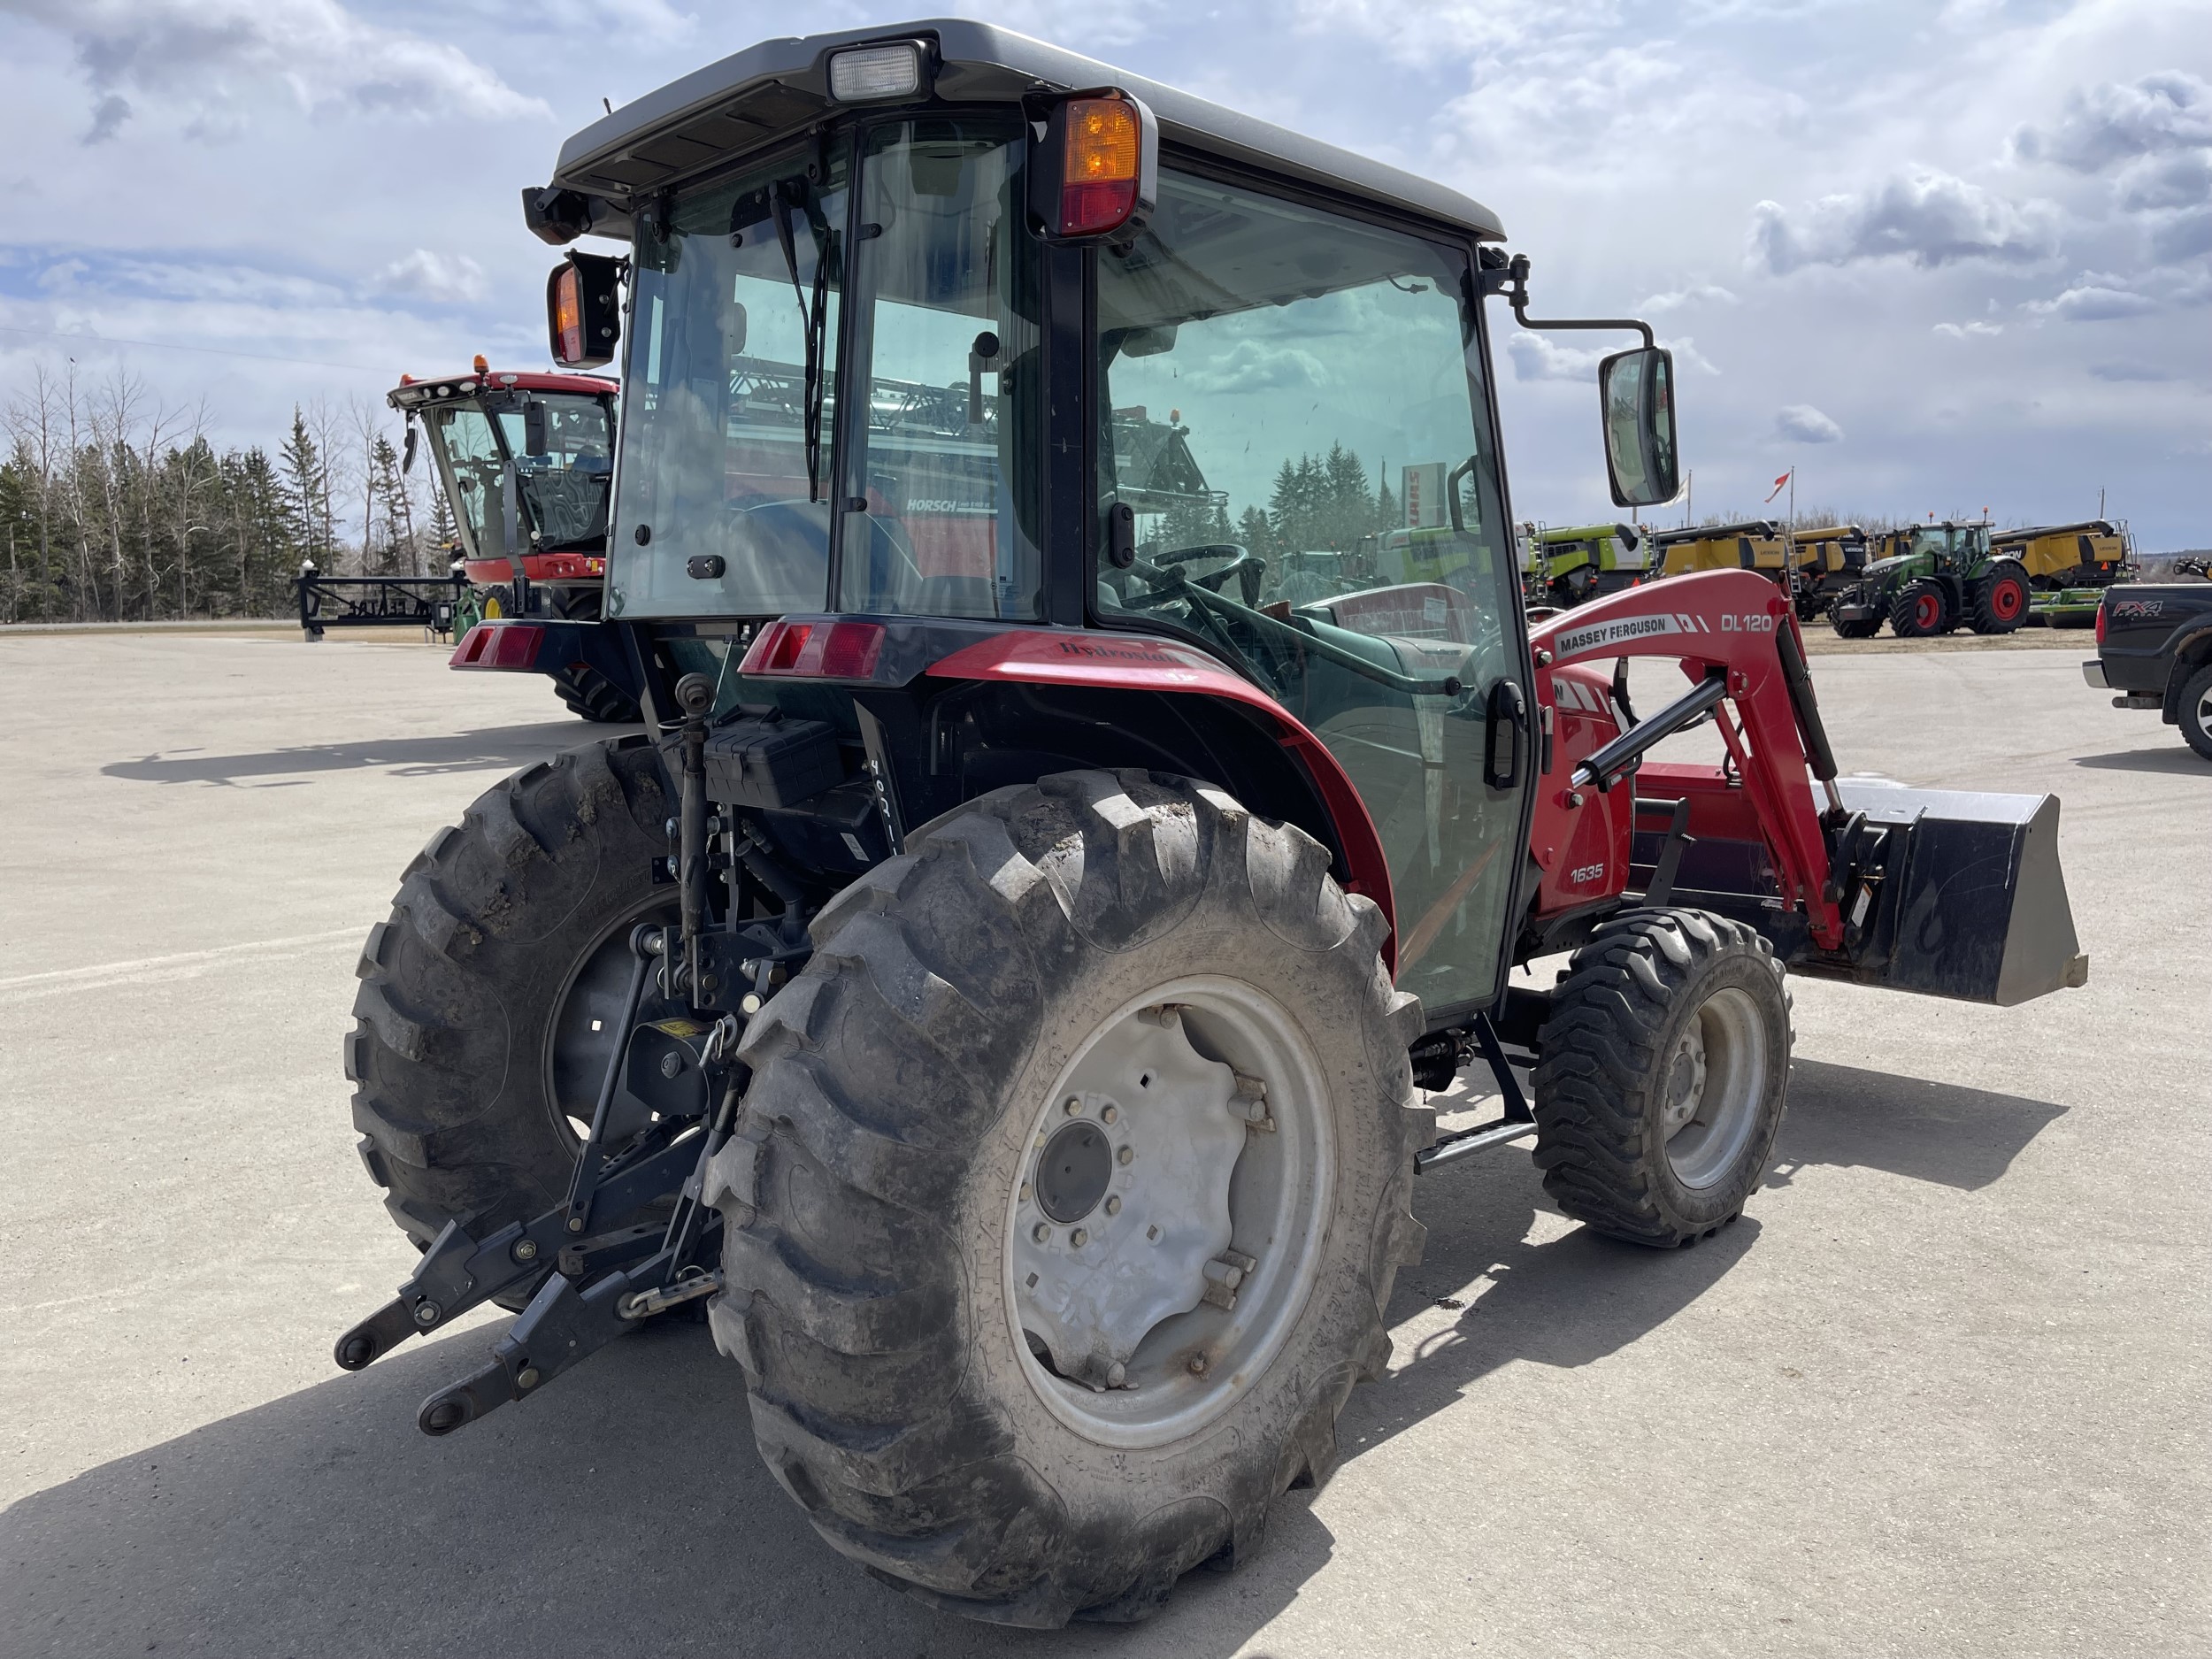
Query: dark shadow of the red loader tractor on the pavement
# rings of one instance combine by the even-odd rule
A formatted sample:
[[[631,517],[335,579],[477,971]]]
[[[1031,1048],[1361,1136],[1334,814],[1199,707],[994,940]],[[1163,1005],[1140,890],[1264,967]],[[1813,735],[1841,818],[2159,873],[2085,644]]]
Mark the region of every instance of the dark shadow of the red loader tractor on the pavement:
[[[1772,1181],[1840,1164],[1971,1190],[2059,1110],[1798,1062]],[[1506,1363],[1582,1367],[1630,1347],[1761,1230],[1745,1217],[1692,1250],[1650,1252],[1535,1225],[1551,1206],[1520,1152],[1425,1177],[1416,1210],[1427,1254],[1389,1310],[1416,1329],[1400,1332],[1396,1374],[1354,1391],[1347,1460],[1455,1405],[1480,1411],[1482,1380]],[[1438,1327],[1444,1298],[1467,1305]],[[9,1652],[1181,1659],[1250,1641],[1336,1548],[1292,1493],[1259,1562],[1190,1575],[1135,1630],[964,1624],[814,1537],[754,1455],[741,1376],[701,1327],[648,1327],[526,1405],[422,1438],[416,1405],[487,1340],[471,1329],[405,1349],[18,1502],[0,1515]]]

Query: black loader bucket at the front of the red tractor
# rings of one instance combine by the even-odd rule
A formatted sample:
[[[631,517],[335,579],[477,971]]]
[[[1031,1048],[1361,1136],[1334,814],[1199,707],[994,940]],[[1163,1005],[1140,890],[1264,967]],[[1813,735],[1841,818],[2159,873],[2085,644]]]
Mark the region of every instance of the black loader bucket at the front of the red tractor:
[[[2055,794],[1905,790],[1843,779],[1849,812],[1880,830],[1860,860],[1867,896],[1847,911],[1856,949],[1794,960],[1801,973],[1834,973],[1891,991],[2015,1002],[2088,982],[2059,869]]]

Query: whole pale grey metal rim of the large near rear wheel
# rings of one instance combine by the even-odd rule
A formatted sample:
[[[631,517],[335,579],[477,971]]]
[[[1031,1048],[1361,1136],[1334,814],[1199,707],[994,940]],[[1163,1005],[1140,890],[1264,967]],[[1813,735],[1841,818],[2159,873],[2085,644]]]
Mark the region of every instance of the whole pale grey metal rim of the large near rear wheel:
[[[1006,1316],[1053,1416],[1152,1447],[1228,1411],[1312,1296],[1334,1152],[1321,1062],[1256,987],[1175,980],[1102,1020],[1031,1115],[1006,1203]]]

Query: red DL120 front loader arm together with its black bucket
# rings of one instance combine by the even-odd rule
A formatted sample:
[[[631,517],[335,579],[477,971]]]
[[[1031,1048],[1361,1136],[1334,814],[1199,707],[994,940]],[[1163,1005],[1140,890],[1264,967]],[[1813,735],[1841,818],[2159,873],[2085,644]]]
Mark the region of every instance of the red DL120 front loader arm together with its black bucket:
[[[1542,706],[1573,728],[1533,841],[1568,845],[1562,823],[1597,810],[1608,834],[1582,845],[1626,849],[1606,858],[1604,889],[1575,900],[1626,898],[1630,865],[1648,865],[1641,902],[1750,922],[1798,973],[2000,1006],[2088,980],[2057,796],[1838,779],[1790,597],[1770,582],[1670,577],[1537,626],[1531,650]],[[1677,659],[1686,695],[1619,730],[1599,668],[1621,657]],[[1593,719],[1593,703],[1613,708]],[[1705,710],[1725,765],[1644,761]]]

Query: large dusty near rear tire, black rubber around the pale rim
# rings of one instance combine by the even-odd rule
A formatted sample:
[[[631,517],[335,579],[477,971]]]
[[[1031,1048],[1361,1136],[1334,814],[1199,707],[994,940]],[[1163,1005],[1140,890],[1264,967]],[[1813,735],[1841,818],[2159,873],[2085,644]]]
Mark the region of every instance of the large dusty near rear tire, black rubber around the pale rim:
[[[907,847],[816,918],[812,962],[748,1031],[743,1121],[706,1188],[726,1221],[710,1323],[761,1455],[838,1553],[967,1617],[1139,1619],[1190,1568],[1259,1548],[1383,1371],[1383,1307],[1422,1237],[1420,1004],[1318,843],[1188,779],[1048,776]],[[1102,1444],[1024,1369],[1009,1201],[1084,1033],[1197,973],[1312,1020],[1338,1148],[1325,1243],[1281,1349],[1219,1416]]]

